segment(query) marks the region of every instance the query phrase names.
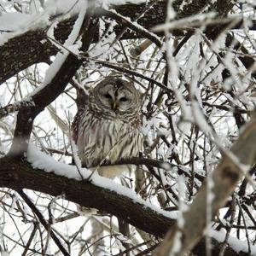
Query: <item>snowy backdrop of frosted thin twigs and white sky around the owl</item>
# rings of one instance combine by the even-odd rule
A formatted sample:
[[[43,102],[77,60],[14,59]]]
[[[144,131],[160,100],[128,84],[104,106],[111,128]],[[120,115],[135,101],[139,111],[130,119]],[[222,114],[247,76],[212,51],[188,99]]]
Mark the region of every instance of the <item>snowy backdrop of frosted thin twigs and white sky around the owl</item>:
[[[125,1],[102,3],[103,8],[115,14],[111,3],[124,4]],[[47,37],[41,43],[50,42],[59,49],[57,55],[51,56],[51,63],[34,64],[0,85],[0,108],[9,110],[0,121],[1,156],[9,152],[14,137],[16,113],[11,109],[18,109],[24,102],[32,104],[32,96],[49,84],[68,54],[84,57],[80,51],[79,30],[88,4],[82,0],[0,0],[0,47],[24,32],[47,28]],[[185,9],[183,4],[181,9]],[[112,73],[114,67],[124,67],[123,72],[115,72],[133,79],[143,94],[143,157],[163,164],[151,168],[137,166],[135,172],[125,172],[114,180],[94,173],[91,183],[128,196],[160,215],[181,218],[180,211],[185,211],[193,202],[203,177],[211,177],[222,157],[221,152],[229,150],[243,125],[251,119],[256,102],[255,65],[245,67],[241,57],[255,60],[256,56],[256,34],[250,29],[256,19],[253,4],[253,1],[235,4],[221,21],[236,24],[242,18],[241,27],[231,29],[230,26],[214,40],[207,37],[205,29],[207,24],[220,22],[216,13],[205,9],[206,14],[201,12],[173,20],[177,13],[168,6],[166,23],[147,31],[160,47],[145,38],[119,40],[114,32],[118,22],[102,17],[99,20],[101,38],[90,45],[86,61],[73,82],[34,120],[27,160],[33,167],[79,180],[77,167],[69,165],[73,155],[69,134],[77,110],[76,88],[88,92]],[[154,9],[154,5],[151,8]],[[78,15],[78,19],[65,43],[61,44],[55,39],[55,28],[61,20],[73,15]],[[133,25],[143,29],[137,20]],[[172,35],[173,27],[189,27],[188,31],[193,33],[184,39]],[[156,35],[160,32],[165,37]],[[228,34],[236,38],[229,47],[226,44]],[[235,47],[237,42],[241,44],[239,48]],[[131,73],[125,73],[126,69]],[[80,171],[84,178],[90,176],[90,170]],[[159,242],[158,238],[134,227],[131,227],[131,236],[121,235],[117,218],[108,212],[94,209],[79,212],[76,204],[61,197],[24,191],[45,219],[54,218],[51,230],[70,255],[121,255],[118,253],[127,249],[123,241],[134,247],[130,255],[137,255]],[[20,195],[6,188],[0,192],[1,253],[4,256],[61,255],[49,232],[39,224]],[[256,255],[255,196],[252,183],[248,183],[245,190],[240,183],[210,224],[207,236],[221,242],[225,240],[236,252],[249,250],[251,255]]]

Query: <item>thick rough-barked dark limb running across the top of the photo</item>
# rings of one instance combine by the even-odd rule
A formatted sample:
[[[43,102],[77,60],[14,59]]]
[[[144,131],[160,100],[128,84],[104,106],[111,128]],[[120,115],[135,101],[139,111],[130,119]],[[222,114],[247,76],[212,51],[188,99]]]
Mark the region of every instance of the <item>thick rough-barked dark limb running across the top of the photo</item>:
[[[151,27],[164,23],[166,20],[166,0],[151,1],[151,3],[152,2],[155,2],[154,8],[148,9],[138,20],[138,15],[142,14],[146,9],[145,3],[113,6],[113,9],[120,15],[128,17],[131,20],[137,20],[140,26],[150,29]],[[173,3],[174,9],[177,10],[178,19],[195,15],[206,6],[209,10],[215,10],[218,12],[218,15],[224,16],[232,8],[234,3],[226,0],[217,1],[217,3],[212,5],[212,1],[194,0],[189,2],[182,12],[179,9],[180,4],[180,0],[176,0]],[[223,8],[223,6],[225,8]],[[104,10],[97,9],[96,16],[102,16],[102,13],[104,13]],[[61,21],[58,26],[55,27],[55,38],[61,44],[65,42],[69,33],[72,31],[75,20],[76,17]],[[119,25],[114,27],[114,32],[119,35],[126,25],[127,22],[125,20],[123,20],[123,22],[119,20]],[[38,30],[24,32],[20,34],[20,36],[10,38],[6,44],[0,46],[0,60],[4,60],[0,61],[0,84],[26,67],[30,67],[32,64],[39,62],[49,63],[49,57],[55,55],[58,50],[47,39],[46,33],[48,29],[49,26],[44,26]],[[122,38],[140,38],[146,35],[142,35],[139,31],[137,32],[126,31]],[[180,35],[184,34],[183,31],[177,31],[176,33]],[[97,41],[97,39],[98,33],[96,33],[94,37],[95,41]],[[22,44],[20,44],[20,42],[22,42]],[[13,56],[15,56],[15,58]]]

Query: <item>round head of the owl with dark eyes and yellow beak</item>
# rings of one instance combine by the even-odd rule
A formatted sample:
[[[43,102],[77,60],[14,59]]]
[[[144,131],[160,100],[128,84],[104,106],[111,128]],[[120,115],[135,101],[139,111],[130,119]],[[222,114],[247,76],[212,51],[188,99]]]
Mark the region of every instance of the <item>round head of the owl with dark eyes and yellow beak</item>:
[[[109,76],[90,91],[90,102],[102,113],[120,118],[141,111],[141,95],[132,82]]]

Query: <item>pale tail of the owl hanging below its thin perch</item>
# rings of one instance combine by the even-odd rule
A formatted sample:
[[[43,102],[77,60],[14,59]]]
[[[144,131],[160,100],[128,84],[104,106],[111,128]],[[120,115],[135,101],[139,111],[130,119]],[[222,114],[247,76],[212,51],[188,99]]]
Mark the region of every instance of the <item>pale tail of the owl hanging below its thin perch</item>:
[[[90,168],[91,171],[96,171],[102,177],[114,178],[120,176],[123,172],[131,171],[131,166],[129,165],[117,165],[117,166],[100,166],[97,168]]]

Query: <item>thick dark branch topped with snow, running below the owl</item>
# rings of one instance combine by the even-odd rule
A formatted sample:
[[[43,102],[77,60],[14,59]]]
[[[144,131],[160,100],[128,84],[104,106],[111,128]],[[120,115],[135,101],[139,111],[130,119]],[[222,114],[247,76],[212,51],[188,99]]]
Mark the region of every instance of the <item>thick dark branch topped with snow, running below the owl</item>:
[[[176,214],[154,207],[108,178],[95,173],[87,181],[90,172],[83,169],[85,179],[81,181],[74,166],[58,163],[34,149],[28,152],[28,160],[32,164],[8,157],[0,159],[0,186],[33,189],[54,196],[64,194],[68,201],[109,212],[154,236],[163,236],[174,224]]]

